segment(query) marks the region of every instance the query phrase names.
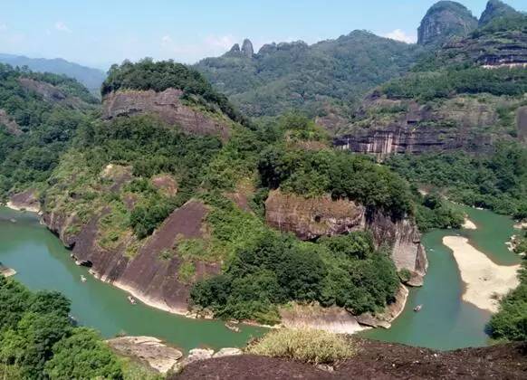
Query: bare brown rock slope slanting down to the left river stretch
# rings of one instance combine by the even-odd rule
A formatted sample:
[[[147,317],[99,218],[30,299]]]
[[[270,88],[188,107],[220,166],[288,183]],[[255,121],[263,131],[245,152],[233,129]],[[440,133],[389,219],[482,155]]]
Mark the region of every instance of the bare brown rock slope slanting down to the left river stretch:
[[[44,214],[43,221],[72,247],[72,257],[77,263],[90,267],[96,277],[129,291],[150,306],[186,314],[190,285],[177,276],[183,262],[177,255],[177,239],[201,237],[206,214],[204,204],[189,201],[170,214],[137,254],[131,256],[127,253],[129,244],[111,251],[97,244],[98,224],[104,212],[81,227],[79,233],[72,233],[70,228],[75,216]],[[160,252],[165,251],[172,252],[172,257],[162,257]],[[195,264],[196,280],[220,270],[216,263]]]

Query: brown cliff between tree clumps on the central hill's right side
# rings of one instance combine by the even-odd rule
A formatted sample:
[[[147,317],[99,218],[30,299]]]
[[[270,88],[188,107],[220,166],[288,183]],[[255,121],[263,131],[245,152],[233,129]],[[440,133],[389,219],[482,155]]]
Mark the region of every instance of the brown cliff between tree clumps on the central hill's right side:
[[[346,200],[305,199],[274,190],[265,202],[265,221],[302,240],[368,229],[378,245],[388,243],[393,247],[392,259],[398,270],[412,273],[408,284],[422,285],[428,265],[426,253],[416,224],[408,220],[393,221],[380,212],[367,213],[364,206]]]

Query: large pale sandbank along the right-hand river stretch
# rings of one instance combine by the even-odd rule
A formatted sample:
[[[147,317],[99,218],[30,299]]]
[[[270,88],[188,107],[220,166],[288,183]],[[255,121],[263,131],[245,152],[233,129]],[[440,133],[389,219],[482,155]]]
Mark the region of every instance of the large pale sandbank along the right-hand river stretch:
[[[503,266],[491,261],[462,236],[446,236],[443,243],[454,252],[454,258],[465,282],[463,299],[479,309],[496,312],[500,297],[519,285],[517,271],[520,265]]]

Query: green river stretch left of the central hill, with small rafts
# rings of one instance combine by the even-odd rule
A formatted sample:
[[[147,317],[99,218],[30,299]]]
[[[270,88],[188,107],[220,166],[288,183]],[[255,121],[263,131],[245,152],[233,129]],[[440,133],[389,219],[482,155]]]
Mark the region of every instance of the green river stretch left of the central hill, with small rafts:
[[[13,223],[11,219],[15,219]],[[119,333],[159,337],[184,350],[195,347],[243,347],[265,329],[241,326],[235,333],[216,320],[190,319],[131,305],[127,293],[95,280],[70,258],[62,242],[34,214],[0,207],[0,262],[17,271],[16,280],[31,290],[58,290],[72,300],[72,316],[104,337]],[[81,275],[88,280],[81,282]]]

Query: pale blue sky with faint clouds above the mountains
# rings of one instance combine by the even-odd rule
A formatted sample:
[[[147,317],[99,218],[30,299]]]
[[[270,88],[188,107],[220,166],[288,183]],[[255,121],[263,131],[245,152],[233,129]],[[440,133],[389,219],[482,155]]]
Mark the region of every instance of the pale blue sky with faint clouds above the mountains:
[[[365,29],[414,41],[434,0],[0,0],[0,52],[107,68],[149,56],[196,62],[249,37],[315,43]],[[527,1],[506,0],[527,11]],[[486,0],[461,0],[476,16]]]

